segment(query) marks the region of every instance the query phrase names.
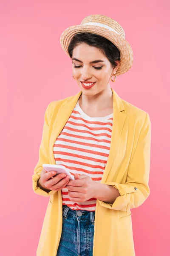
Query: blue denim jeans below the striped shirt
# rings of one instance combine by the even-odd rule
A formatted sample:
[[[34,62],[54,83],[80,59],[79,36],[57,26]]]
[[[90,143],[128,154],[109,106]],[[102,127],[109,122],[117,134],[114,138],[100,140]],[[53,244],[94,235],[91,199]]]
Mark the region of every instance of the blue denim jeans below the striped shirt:
[[[62,206],[62,235],[57,256],[93,256],[95,211]]]

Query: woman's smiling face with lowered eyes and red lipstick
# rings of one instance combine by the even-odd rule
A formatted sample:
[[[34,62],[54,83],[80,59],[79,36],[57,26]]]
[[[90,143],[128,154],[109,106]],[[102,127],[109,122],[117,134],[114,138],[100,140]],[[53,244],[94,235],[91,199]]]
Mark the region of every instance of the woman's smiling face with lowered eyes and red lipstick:
[[[113,68],[108,58],[96,47],[82,43],[73,49],[72,69],[74,79],[85,95],[92,96],[107,90],[110,87],[111,75],[116,73],[117,68],[118,66]],[[95,84],[92,87],[85,87],[81,81],[95,82]]]

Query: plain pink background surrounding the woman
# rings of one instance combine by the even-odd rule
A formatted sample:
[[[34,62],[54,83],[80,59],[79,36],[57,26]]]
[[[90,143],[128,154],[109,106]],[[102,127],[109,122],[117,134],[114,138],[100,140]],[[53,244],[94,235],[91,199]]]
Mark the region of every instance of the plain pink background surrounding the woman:
[[[170,3],[0,1],[0,255],[34,256],[49,198],[32,190],[47,105],[79,92],[60,35],[91,14],[117,20],[132,68],[111,87],[151,119],[150,196],[132,209],[136,256],[169,256]],[[169,153],[169,154],[168,154]]]

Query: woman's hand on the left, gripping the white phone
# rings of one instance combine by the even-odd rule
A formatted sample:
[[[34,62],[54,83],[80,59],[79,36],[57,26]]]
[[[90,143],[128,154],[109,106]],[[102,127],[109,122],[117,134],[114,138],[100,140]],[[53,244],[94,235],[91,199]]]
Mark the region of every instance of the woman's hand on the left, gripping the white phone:
[[[44,189],[59,191],[68,184],[70,177],[64,173],[56,175],[53,172],[56,173],[55,171],[47,172],[45,169],[42,169],[39,184]]]

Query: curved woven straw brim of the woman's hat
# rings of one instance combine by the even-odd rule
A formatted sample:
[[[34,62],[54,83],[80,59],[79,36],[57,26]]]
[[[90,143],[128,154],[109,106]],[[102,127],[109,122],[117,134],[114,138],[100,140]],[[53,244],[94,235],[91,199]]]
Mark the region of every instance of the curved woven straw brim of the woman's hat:
[[[101,35],[110,40],[119,49],[120,63],[116,70],[116,76],[122,75],[130,69],[133,63],[133,51],[130,44],[124,38],[122,38],[121,35],[118,35],[112,30],[105,29],[100,26],[76,25],[65,29],[60,37],[60,44],[68,56],[68,46],[72,37],[76,34],[85,32]]]

